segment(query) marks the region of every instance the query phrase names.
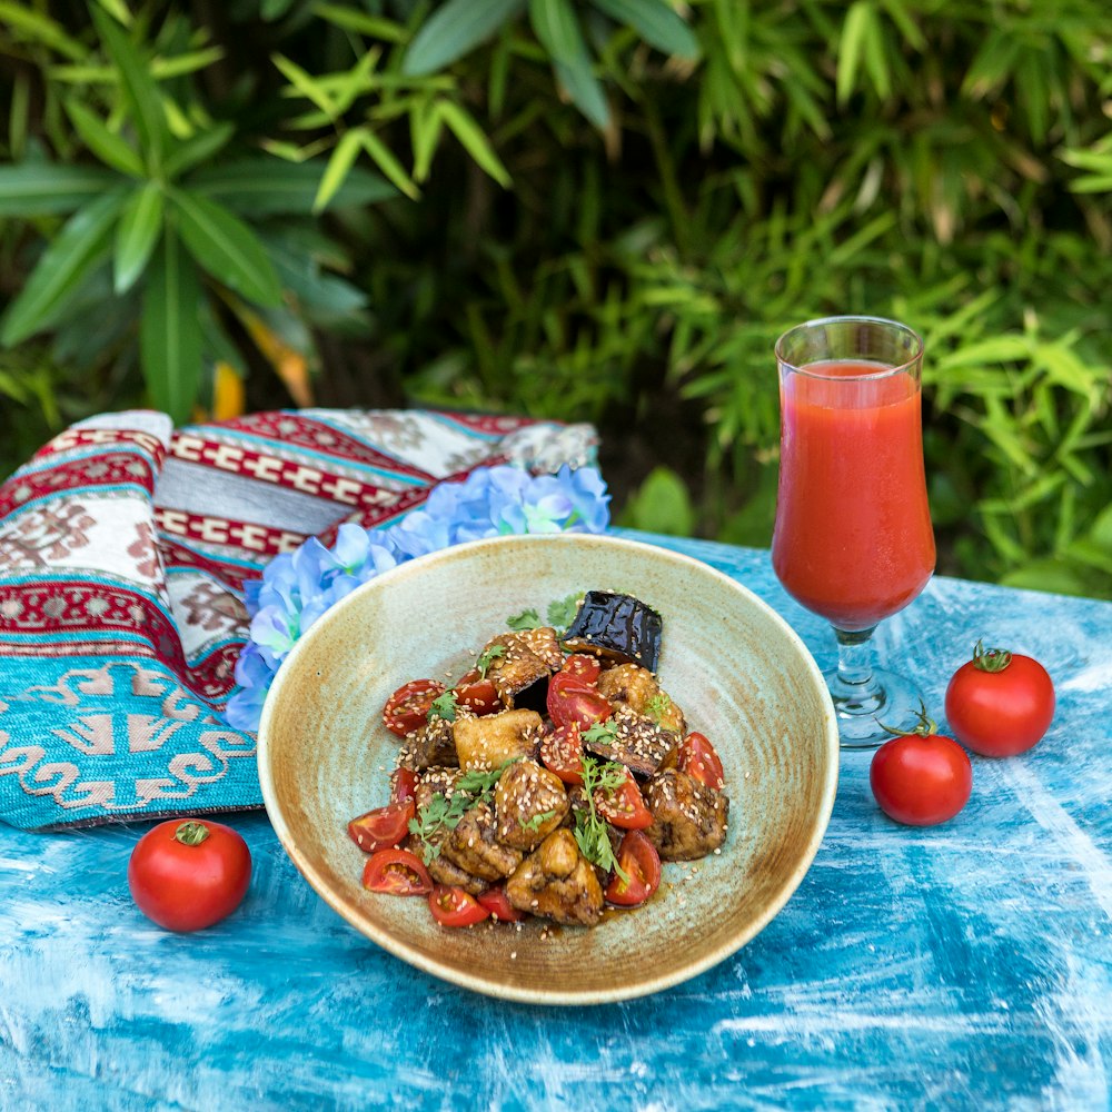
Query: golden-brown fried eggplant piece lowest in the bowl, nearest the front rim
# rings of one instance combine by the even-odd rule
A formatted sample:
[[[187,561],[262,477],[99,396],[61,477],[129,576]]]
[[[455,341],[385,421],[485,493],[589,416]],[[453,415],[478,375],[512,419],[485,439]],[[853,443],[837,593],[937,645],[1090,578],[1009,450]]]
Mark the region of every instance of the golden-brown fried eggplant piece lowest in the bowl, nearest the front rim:
[[[575,835],[557,830],[506,882],[506,896],[518,910],[570,926],[594,926],[603,914],[603,886],[579,853]]]

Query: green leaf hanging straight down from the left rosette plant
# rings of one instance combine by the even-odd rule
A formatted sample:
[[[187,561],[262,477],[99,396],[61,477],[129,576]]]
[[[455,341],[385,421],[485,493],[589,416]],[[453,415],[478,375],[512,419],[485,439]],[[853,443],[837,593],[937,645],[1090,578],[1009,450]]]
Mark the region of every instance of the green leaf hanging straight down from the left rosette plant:
[[[201,381],[200,277],[167,228],[143,292],[139,347],[151,401],[176,424],[189,419]]]

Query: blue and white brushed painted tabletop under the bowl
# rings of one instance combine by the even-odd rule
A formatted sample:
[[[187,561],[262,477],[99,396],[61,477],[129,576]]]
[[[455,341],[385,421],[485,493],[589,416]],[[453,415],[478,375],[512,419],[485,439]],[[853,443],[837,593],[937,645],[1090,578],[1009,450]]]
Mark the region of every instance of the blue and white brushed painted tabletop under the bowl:
[[[745,583],[834,662],[768,555],[648,538]],[[935,579],[882,625],[941,716],[973,643],[1058,686],[1029,754],[973,758],[953,822],[888,822],[844,753],[803,884],[747,946],[657,996],[539,1010],[379,951],[320,901],[265,815],[231,919],[190,936],[132,906],[146,826],[0,832],[0,1108],[1106,1109],[1112,1073],[1112,605]],[[575,975],[574,970],[568,971]]]

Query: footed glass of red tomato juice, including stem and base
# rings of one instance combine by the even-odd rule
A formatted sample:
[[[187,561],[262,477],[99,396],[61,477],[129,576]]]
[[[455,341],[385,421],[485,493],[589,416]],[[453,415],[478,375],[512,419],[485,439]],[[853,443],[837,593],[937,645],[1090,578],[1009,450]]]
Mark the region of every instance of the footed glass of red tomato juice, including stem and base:
[[[870,638],[934,572],[921,417],[923,341],[878,317],[827,317],[776,341],[781,455],[772,560],[796,602],[834,627],[826,682],[843,746],[907,729],[921,697],[874,668]]]

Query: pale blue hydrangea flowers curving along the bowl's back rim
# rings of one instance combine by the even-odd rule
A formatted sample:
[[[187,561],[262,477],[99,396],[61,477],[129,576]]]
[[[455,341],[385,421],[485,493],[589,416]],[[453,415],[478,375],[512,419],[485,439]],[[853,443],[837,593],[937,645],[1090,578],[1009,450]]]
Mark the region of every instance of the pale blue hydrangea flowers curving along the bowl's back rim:
[[[606,484],[594,467],[563,466],[530,475],[510,465],[478,467],[460,483],[440,483],[425,505],[394,525],[368,532],[341,525],[331,548],[316,537],[275,557],[262,578],[245,584],[251,624],[236,663],[238,689],[226,718],[258,729],[262,704],[297,639],[368,579],[449,545],[510,533],[603,533],[609,524]]]

